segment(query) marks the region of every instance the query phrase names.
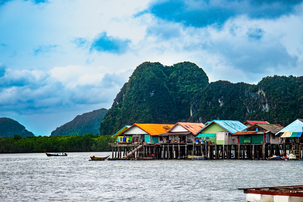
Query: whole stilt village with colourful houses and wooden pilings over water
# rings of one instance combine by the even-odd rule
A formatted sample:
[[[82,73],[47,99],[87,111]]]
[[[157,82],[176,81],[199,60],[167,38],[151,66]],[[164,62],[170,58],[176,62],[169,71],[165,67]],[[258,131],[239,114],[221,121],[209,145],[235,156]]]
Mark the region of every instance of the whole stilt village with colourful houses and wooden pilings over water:
[[[112,138],[112,159],[302,159],[303,119],[125,125]]]

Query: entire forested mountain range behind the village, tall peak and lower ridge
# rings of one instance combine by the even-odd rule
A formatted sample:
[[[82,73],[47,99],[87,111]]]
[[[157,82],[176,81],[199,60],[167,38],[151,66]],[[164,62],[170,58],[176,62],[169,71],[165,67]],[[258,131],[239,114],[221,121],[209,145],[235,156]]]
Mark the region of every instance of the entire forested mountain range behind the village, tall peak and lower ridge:
[[[100,134],[134,123],[264,120],[286,126],[303,116],[303,77],[273,76],[257,85],[216,81],[191,62],[139,65],[105,114]]]

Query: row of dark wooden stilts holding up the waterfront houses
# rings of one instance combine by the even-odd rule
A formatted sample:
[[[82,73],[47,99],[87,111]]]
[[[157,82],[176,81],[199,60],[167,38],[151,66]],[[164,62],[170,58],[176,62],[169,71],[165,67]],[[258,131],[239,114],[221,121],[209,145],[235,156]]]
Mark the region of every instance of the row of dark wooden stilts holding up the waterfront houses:
[[[112,145],[112,158],[150,157],[155,159],[186,159],[188,155],[208,156],[209,159],[268,159],[274,155],[287,156],[287,150],[302,159],[302,143],[284,144],[227,144],[212,143],[108,143]],[[294,150],[295,148],[295,150]]]

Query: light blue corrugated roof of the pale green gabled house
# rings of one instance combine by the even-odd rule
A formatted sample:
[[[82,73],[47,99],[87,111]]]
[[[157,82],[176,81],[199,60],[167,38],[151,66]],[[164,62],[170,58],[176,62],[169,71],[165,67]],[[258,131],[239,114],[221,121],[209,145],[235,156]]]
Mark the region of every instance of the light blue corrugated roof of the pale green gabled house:
[[[247,126],[242,124],[240,121],[213,120],[213,121],[211,121],[211,123],[207,124],[204,128],[202,128],[200,131],[198,131],[196,134],[203,131],[206,127],[210,126],[213,123],[218,124],[220,127],[224,128],[231,134],[238,132],[238,131],[242,131],[245,128],[247,128]]]

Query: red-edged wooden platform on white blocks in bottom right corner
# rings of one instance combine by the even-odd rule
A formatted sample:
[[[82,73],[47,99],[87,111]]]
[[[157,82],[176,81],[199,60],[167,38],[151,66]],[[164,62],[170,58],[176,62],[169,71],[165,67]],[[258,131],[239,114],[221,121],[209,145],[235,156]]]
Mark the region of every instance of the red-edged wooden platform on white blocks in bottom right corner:
[[[303,201],[303,185],[280,187],[239,188],[244,190],[248,202],[298,202]]]

